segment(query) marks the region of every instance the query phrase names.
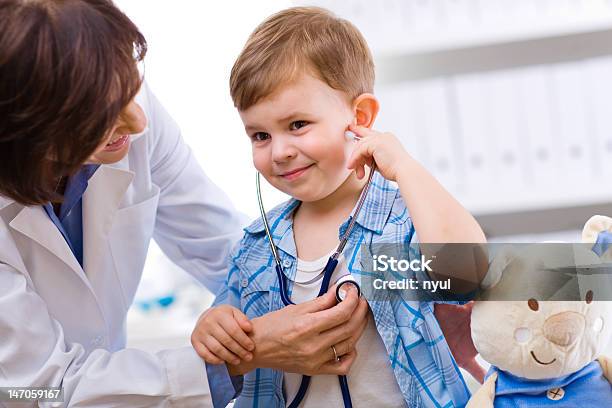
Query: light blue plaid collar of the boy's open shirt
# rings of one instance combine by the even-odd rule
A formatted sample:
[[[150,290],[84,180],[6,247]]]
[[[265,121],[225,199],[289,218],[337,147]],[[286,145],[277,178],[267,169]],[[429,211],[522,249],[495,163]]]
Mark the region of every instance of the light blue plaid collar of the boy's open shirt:
[[[380,173],[376,172],[372,177],[372,187],[364,201],[361,212],[357,216],[356,224],[374,234],[382,234],[398,194],[399,190],[397,187],[393,183],[385,180]],[[292,234],[287,234],[287,232],[293,225],[293,211],[299,204],[300,201],[292,198],[268,212],[270,233],[274,238],[276,246],[283,252],[294,257],[296,256],[295,244],[291,236]],[[344,234],[349,221],[350,220],[346,220],[340,226],[339,237]],[[264,233],[263,220],[258,218],[251,225],[246,227],[244,231],[252,235]]]

